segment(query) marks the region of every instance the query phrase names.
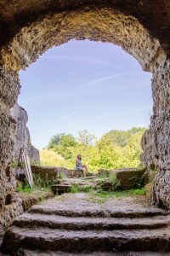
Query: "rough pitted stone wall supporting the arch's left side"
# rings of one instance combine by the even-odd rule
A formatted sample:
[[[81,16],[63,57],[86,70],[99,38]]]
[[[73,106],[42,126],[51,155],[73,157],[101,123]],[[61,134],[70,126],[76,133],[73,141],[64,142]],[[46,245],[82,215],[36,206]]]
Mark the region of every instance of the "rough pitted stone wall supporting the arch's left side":
[[[10,108],[20,91],[18,74],[0,68],[0,232],[20,213],[20,202],[14,193],[14,170],[8,165],[14,149],[16,121]]]

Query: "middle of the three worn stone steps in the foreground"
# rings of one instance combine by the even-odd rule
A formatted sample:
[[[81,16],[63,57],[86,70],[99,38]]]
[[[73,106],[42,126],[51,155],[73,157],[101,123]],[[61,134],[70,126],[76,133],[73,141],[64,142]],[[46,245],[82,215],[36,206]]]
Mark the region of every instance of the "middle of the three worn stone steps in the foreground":
[[[64,217],[57,215],[42,215],[25,213],[14,220],[14,225],[20,228],[48,227],[67,230],[131,230],[158,229],[167,226],[167,217],[150,218],[84,218]]]

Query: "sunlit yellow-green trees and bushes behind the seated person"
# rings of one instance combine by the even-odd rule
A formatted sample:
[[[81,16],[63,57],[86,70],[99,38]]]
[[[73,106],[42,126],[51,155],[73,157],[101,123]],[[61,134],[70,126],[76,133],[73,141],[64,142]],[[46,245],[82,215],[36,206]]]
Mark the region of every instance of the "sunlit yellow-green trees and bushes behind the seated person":
[[[71,134],[54,135],[48,146],[40,152],[43,166],[64,166],[75,168],[77,154],[82,154],[82,162],[90,171],[139,167],[140,142],[146,128],[133,127],[127,131],[112,130],[97,139],[87,130],[77,137]]]

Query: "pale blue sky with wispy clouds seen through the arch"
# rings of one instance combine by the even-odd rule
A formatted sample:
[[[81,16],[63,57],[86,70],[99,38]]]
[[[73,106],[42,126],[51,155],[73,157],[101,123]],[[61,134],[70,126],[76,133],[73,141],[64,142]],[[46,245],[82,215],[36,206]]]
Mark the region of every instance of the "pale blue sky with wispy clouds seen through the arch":
[[[37,148],[56,133],[150,124],[151,73],[114,44],[72,40],[49,49],[20,72],[20,106]]]

